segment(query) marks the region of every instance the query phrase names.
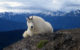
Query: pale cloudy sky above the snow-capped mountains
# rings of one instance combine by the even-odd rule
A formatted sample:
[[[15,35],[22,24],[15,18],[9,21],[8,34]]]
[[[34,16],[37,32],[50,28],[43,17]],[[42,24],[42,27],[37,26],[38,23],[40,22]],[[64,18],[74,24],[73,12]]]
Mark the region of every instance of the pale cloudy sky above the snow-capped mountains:
[[[71,11],[80,9],[80,0],[0,0],[0,12]]]

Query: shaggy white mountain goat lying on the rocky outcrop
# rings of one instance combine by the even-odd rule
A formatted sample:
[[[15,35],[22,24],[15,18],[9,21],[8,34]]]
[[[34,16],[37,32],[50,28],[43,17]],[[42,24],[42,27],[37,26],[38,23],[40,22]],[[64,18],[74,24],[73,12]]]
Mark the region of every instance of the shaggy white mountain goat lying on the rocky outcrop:
[[[53,33],[53,27],[47,21],[39,16],[30,16],[27,18],[27,31],[23,37],[32,36],[33,34]]]

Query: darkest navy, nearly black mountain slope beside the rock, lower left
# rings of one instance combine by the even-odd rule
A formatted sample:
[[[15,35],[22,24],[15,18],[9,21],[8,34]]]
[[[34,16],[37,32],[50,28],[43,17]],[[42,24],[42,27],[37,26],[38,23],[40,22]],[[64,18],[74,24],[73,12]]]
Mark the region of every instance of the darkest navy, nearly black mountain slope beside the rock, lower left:
[[[25,30],[14,30],[14,31],[5,31],[0,32],[0,50],[3,47],[6,47],[14,42],[21,40],[22,34]]]

